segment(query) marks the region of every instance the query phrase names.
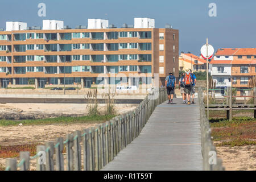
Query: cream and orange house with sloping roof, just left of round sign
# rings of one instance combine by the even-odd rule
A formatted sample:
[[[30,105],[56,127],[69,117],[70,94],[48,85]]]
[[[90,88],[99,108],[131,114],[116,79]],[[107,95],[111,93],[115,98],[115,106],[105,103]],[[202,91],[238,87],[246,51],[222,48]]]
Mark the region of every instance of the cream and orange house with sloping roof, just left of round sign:
[[[189,68],[192,71],[206,71],[207,61],[202,57],[193,55],[192,53],[181,52],[179,56],[179,71],[185,71]]]

